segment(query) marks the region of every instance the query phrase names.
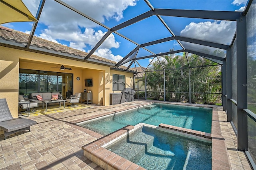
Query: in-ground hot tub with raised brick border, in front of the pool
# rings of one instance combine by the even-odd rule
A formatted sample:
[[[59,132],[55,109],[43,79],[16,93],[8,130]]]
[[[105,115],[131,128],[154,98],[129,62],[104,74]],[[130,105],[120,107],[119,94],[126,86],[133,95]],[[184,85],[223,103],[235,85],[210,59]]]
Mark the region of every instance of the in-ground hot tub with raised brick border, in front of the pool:
[[[179,127],[163,127],[144,123],[135,128],[126,126],[83,146],[84,156],[104,169],[212,168],[210,134],[202,136],[202,132],[194,131],[193,135],[179,132]]]

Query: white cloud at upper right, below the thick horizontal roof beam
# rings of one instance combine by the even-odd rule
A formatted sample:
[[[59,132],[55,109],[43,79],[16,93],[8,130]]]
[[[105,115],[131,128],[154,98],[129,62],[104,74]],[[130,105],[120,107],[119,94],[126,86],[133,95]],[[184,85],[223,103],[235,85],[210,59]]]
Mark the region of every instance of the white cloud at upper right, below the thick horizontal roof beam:
[[[230,44],[236,31],[236,22],[191,22],[180,32],[180,36],[206,40],[210,42]]]

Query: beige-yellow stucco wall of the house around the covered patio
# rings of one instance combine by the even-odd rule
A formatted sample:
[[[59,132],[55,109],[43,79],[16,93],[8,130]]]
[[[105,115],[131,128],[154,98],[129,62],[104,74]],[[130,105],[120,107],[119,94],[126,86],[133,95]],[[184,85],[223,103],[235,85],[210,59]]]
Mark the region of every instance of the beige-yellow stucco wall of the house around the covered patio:
[[[60,70],[64,65],[72,70]],[[57,67],[57,68],[52,68]],[[70,60],[0,46],[0,98],[6,98],[13,117],[18,117],[19,69],[73,73],[73,93],[92,91],[94,104],[109,105],[112,74],[125,75],[126,87],[132,87],[132,73],[111,71],[109,66]],[[76,80],[80,77],[80,80]],[[84,79],[92,79],[93,87],[85,87]],[[117,92],[117,91],[115,91]]]

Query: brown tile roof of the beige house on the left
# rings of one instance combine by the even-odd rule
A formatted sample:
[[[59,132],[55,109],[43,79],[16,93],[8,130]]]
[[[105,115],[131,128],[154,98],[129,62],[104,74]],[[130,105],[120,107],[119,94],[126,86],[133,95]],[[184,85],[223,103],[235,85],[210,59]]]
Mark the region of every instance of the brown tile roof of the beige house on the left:
[[[4,26],[0,26],[0,40],[6,40],[9,42],[15,42],[18,44],[23,44],[24,46],[27,44],[29,38],[29,34],[26,34],[24,32],[19,32]],[[2,43],[2,42],[1,42]],[[32,47],[38,47],[41,49],[48,49],[51,51],[56,51],[60,52],[62,54],[69,54],[69,55],[74,55],[76,57],[81,57],[81,59],[84,59],[88,53],[84,51],[80,51],[78,49],[74,49],[71,47],[68,47],[66,45],[61,45],[59,43],[54,43],[48,40],[44,40],[42,38],[38,38],[34,36],[32,38],[32,42],[30,44]],[[110,59],[106,59],[103,57],[99,57],[97,55],[91,55],[90,58],[91,60],[96,61],[101,61],[105,64],[110,64],[110,65],[116,65],[115,61],[112,61]],[[126,70],[127,67],[120,66],[120,67],[115,67],[116,69],[121,69],[121,70]],[[129,71],[134,71],[129,69]]]

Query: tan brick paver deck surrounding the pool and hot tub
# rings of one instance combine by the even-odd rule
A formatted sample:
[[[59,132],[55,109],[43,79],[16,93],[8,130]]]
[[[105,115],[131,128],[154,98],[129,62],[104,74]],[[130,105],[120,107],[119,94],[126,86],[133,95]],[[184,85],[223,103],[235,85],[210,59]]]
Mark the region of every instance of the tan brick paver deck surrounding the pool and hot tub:
[[[149,103],[150,101],[134,101],[108,107],[88,105],[73,111],[26,117],[37,121],[31,127],[31,132],[17,132],[4,140],[3,131],[0,130],[0,170],[100,170],[102,168],[83,156],[82,146],[102,135],[75,123]],[[219,133],[225,138],[232,169],[251,170],[245,153],[236,149],[236,135],[231,124],[226,122],[226,113],[222,111],[222,107],[217,108],[218,117],[215,121],[218,122],[216,126],[219,125],[220,131],[212,133]]]

